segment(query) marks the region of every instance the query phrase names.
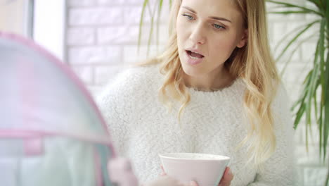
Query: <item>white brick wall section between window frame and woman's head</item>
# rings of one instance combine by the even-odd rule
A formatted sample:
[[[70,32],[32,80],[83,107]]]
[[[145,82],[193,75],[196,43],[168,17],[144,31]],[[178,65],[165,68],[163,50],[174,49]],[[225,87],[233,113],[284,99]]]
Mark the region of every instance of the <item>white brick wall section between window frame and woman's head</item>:
[[[148,35],[142,35],[137,53],[141,0],[70,0],[67,20],[67,60],[93,94],[124,66],[146,59]],[[159,43],[152,38],[149,56],[161,51],[167,40],[167,12],[164,4]],[[150,17],[144,20],[150,30]],[[156,27],[154,28],[157,31]]]

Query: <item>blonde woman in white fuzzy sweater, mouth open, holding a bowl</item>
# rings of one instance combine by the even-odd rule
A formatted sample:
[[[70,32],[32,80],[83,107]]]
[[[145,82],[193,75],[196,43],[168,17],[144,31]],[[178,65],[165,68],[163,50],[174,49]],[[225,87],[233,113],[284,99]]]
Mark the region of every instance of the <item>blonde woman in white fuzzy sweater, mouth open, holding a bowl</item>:
[[[293,185],[292,122],[264,0],[176,0],[170,31],[161,56],[100,99],[141,182],[161,172],[157,154],[195,152],[231,157],[225,185]]]

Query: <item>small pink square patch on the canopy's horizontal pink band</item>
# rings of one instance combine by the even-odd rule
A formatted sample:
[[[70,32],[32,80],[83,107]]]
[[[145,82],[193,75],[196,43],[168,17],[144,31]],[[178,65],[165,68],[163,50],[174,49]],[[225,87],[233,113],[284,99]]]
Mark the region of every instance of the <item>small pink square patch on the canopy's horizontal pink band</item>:
[[[27,156],[36,156],[44,153],[43,139],[41,137],[26,138],[24,151]]]

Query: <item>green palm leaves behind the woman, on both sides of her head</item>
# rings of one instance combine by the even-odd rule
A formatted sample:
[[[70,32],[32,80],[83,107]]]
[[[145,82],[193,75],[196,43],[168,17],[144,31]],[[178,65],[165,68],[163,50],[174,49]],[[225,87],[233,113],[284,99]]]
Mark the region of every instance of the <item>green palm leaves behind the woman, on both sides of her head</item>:
[[[172,0],[168,0],[171,6]],[[306,144],[308,149],[308,136],[311,130],[311,125],[317,125],[319,133],[319,154],[320,159],[325,163],[325,156],[327,154],[326,147],[329,137],[329,1],[328,0],[305,0],[305,3],[313,5],[314,8],[308,8],[308,6],[301,6],[298,4],[291,4],[287,1],[272,1],[266,0],[274,7],[273,11],[269,13],[281,14],[281,15],[314,15],[315,20],[310,23],[306,23],[301,27],[296,28],[293,32],[288,33],[283,37],[279,44],[284,44],[288,39],[282,51],[276,56],[276,61],[279,61],[284,55],[288,55],[288,61],[285,63],[281,75],[285,72],[285,68],[288,66],[290,59],[295,51],[301,46],[303,42],[316,37],[317,43],[314,49],[313,66],[307,73],[302,86],[302,92],[299,95],[299,99],[295,101],[291,110],[295,113],[294,128],[296,129],[301,122],[301,119],[306,118]],[[151,28],[148,39],[148,46],[150,45],[151,37],[153,35],[153,25],[155,20],[155,11],[157,8],[157,20],[160,18],[160,12],[162,9],[163,0],[155,2],[155,6],[152,10],[149,10],[151,17]],[[141,44],[141,32],[143,26],[143,18],[146,9],[150,8],[148,0],[143,1],[143,11],[141,13],[140,32],[138,37],[138,46]],[[157,21],[157,27],[158,27]],[[309,32],[312,28],[318,28],[315,33]],[[292,36],[292,37],[291,37]],[[303,38],[302,38],[303,37]],[[149,47],[148,47],[149,48]],[[290,50],[288,50],[290,49]],[[289,51],[289,52],[288,52]],[[289,53],[289,54],[288,54]],[[319,94],[319,95],[318,95]],[[312,118],[315,122],[312,122]],[[329,168],[328,168],[329,170]],[[328,185],[329,171],[325,185]]]

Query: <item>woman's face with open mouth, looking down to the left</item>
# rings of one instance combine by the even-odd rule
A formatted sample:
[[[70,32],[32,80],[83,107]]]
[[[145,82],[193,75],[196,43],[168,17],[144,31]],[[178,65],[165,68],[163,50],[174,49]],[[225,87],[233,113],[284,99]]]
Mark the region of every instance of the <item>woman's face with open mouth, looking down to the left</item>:
[[[247,35],[232,0],[183,0],[176,32],[183,71],[194,77],[219,73]]]

